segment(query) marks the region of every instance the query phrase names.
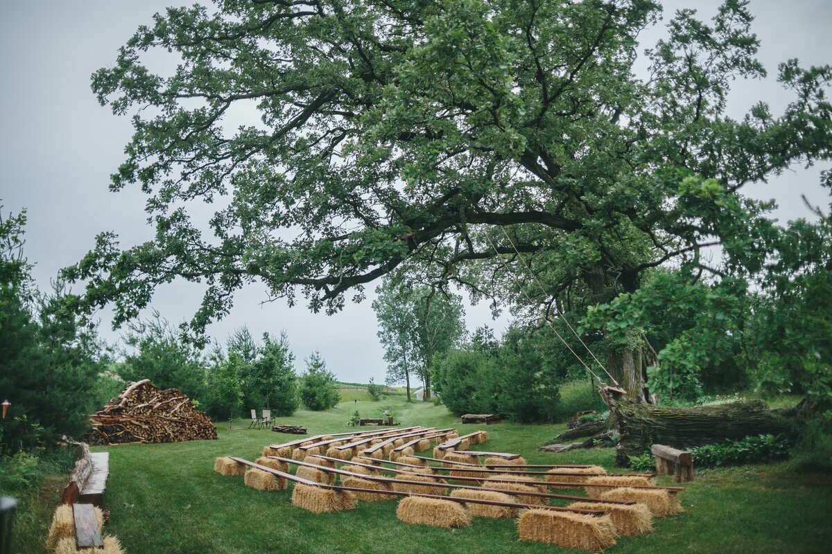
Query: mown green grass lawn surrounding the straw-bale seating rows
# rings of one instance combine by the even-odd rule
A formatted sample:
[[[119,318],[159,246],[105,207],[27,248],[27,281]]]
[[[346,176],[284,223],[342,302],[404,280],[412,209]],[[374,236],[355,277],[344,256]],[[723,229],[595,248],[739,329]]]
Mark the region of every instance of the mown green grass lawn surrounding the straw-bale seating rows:
[[[443,406],[405,404],[399,396],[379,402],[351,399],[322,413],[299,411],[278,424],[305,425],[310,434],[354,430],[346,426],[358,409],[379,417],[390,407],[405,426],[457,427],[461,433],[488,430],[478,449],[521,453],[529,463],[597,463],[612,468],[612,449],[553,454],[537,452],[563,425],[501,423],[461,426]],[[254,460],[265,444],[297,435],[219,424],[220,439],[177,444],[109,448],[110,478],[105,495],[111,520],[105,531],[127,552],[181,554],[262,552],[362,552],[418,554],[460,552],[573,552],[519,542],[514,520],[475,518],[471,527],[449,531],[411,526],[396,518],[396,502],[359,503],[357,509],[314,515],[290,503],[290,491],[246,488],[242,478],[221,477],[214,458],[236,455]],[[96,449],[99,450],[99,449]],[[44,552],[48,513],[57,504],[60,479],[47,480],[35,508],[40,535],[18,537],[21,552]],[[671,484],[669,479],[664,484]],[[832,542],[832,477],[795,475],[787,463],[696,473],[682,494],[686,512],[655,520],[655,532],[622,537],[612,552],[829,552]]]

